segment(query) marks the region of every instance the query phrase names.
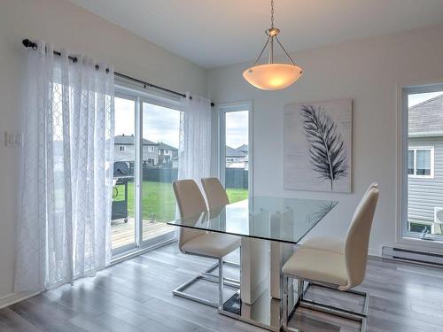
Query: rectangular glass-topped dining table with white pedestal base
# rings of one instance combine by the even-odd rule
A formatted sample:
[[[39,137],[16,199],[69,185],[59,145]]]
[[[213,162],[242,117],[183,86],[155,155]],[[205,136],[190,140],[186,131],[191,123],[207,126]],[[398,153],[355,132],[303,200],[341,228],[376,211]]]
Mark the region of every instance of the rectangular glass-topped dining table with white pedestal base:
[[[279,331],[282,266],[291,257],[294,244],[337,204],[329,200],[257,196],[168,224],[241,236],[239,290],[224,301],[219,313]],[[290,285],[292,306],[297,302],[296,287]]]

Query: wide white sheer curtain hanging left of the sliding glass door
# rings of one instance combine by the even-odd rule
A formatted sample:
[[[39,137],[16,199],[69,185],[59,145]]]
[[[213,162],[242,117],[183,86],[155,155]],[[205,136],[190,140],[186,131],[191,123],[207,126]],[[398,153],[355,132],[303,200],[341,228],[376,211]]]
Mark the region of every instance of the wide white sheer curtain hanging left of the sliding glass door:
[[[27,56],[17,291],[73,282],[111,259],[113,69],[37,44]]]

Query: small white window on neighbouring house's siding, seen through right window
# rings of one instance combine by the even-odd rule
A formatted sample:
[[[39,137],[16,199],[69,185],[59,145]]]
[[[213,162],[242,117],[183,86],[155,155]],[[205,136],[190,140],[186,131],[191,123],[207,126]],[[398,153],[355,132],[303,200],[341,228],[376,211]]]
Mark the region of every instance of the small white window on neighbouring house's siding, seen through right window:
[[[423,178],[434,176],[434,147],[409,147],[408,175]]]

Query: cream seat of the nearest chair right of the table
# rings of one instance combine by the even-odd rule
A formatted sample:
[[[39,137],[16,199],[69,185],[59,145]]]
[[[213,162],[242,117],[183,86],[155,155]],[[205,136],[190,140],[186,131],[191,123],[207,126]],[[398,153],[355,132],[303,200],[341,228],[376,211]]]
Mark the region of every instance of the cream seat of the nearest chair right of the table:
[[[332,251],[300,248],[284,264],[283,273],[315,282],[347,284],[345,256]]]

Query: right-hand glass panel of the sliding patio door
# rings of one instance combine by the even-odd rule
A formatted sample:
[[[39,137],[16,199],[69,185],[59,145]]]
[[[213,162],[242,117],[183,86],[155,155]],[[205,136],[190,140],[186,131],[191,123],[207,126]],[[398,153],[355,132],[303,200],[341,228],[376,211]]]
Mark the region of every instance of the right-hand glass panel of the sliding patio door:
[[[175,220],[172,181],[178,174],[180,112],[148,100],[142,102],[142,110],[142,241],[158,243],[175,231],[167,221]]]

